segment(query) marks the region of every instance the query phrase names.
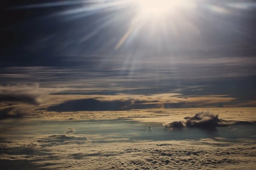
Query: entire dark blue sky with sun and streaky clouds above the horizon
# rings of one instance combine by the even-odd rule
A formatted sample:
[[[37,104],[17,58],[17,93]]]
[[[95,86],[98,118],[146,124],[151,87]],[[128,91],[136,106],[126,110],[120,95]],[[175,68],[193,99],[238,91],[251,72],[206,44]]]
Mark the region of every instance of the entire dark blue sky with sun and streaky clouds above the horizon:
[[[253,0],[13,0],[0,119],[38,110],[255,107]]]

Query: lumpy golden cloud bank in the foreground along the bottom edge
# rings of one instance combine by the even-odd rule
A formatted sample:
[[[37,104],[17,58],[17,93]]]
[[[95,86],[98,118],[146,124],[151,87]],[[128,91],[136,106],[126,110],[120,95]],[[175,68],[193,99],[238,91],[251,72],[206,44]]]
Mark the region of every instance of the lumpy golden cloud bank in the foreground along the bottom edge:
[[[26,140],[23,139],[23,142]],[[40,144],[44,146],[44,143]],[[17,155],[15,150],[18,148],[12,148],[8,154],[0,154],[0,159],[33,160],[39,167],[64,170],[253,169],[255,166],[254,160],[248,159],[255,156],[253,140],[137,141],[135,145],[134,142],[60,142],[58,145],[38,147],[33,153]],[[45,152],[47,156],[41,154]]]

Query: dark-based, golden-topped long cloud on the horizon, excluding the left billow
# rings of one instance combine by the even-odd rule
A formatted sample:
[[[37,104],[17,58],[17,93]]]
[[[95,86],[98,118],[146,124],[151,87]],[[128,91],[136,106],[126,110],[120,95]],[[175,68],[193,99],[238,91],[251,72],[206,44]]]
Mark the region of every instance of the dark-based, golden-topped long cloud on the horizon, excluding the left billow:
[[[81,95],[81,97],[85,99],[70,99],[70,101],[49,107],[48,111],[122,111],[148,108],[188,108],[193,105],[207,106],[219,102],[230,102],[235,99],[226,95],[184,97],[183,94],[177,93]]]

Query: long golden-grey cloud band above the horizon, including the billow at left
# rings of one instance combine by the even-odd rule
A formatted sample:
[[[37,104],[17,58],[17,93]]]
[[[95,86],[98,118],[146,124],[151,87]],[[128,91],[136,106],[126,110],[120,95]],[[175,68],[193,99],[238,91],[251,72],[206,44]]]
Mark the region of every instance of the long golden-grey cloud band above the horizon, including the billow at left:
[[[38,84],[0,86],[0,119],[20,117],[37,110],[48,111],[122,111],[148,108],[187,108],[212,106],[236,98],[227,95],[183,96],[163,94],[65,94],[76,88],[44,88]]]

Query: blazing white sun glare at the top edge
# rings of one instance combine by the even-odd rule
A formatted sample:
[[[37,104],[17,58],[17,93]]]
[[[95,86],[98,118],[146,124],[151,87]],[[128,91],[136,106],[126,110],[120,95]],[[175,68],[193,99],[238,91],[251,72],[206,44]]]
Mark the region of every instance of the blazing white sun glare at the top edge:
[[[155,41],[160,34],[164,37],[179,36],[178,29],[186,25],[187,30],[196,34],[200,31],[189,23],[183,11],[194,11],[195,0],[131,0],[134,16],[131,24],[115,46],[118,50],[124,43],[131,42],[137,35],[145,35],[146,39]],[[169,31],[167,31],[169,30]],[[141,34],[142,33],[142,34]],[[145,38],[144,38],[145,39]]]

